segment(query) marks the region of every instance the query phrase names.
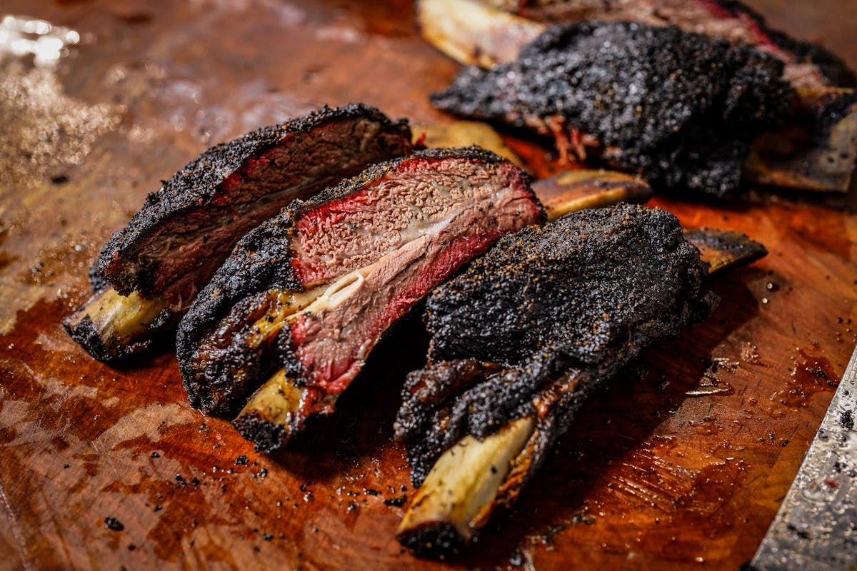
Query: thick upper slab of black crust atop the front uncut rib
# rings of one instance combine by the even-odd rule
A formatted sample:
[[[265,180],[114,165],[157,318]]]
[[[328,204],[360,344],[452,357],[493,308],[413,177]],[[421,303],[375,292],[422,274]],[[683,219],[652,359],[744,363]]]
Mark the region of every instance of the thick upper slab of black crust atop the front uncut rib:
[[[524,229],[428,298],[431,359],[512,364],[561,342],[572,360],[595,364],[627,325],[692,306],[706,272],[659,209],[622,205]]]

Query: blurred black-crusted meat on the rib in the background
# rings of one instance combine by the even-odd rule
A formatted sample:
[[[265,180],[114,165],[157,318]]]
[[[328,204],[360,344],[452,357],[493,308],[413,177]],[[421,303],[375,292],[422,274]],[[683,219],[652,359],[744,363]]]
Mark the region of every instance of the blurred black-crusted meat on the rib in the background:
[[[782,62],[752,47],[582,21],[548,28],[515,62],[464,68],[432,103],[542,134],[560,124],[653,187],[723,197],[738,188],[756,135],[785,122],[792,95]]]

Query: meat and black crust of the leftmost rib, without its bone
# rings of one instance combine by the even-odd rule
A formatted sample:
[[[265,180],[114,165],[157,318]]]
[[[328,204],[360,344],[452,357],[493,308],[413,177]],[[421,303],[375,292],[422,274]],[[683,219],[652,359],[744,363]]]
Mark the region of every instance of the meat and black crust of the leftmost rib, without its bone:
[[[247,230],[291,199],[408,152],[407,123],[363,104],[324,107],[213,146],[147,196],[105,244],[95,275],[121,294],[188,300]]]

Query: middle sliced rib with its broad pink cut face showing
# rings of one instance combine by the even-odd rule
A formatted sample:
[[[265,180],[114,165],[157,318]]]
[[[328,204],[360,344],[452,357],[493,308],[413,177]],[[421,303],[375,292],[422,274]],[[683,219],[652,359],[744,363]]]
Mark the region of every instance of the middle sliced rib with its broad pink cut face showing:
[[[269,409],[285,405],[272,398],[296,396],[299,410],[273,415],[291,429],[329,412],[397,318],[501,235],[543,219],[526,175],[476,149],[418,152],[294,203],[239,243],[183,319],[191,402],[235,413],[282,370],[238,423],[276,447],[290,427],[273,430]],[[260,442],[263,431],[276,438]]]

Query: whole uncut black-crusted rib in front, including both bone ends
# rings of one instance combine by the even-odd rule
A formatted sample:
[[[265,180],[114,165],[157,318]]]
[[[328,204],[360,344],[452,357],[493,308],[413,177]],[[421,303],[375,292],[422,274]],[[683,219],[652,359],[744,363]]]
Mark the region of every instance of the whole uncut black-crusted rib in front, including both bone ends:
[[[409,375],[395,425],[422,485],[402,543],[458,550],[514,501],[590,395],[708,317],[710,268],[762,255],[739,233],[685,234],[666,211],[619,205],[508,235],[436,288],[429,364]]]

